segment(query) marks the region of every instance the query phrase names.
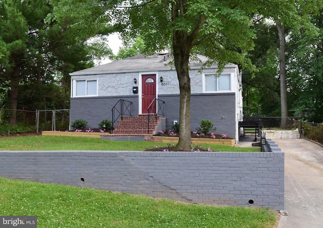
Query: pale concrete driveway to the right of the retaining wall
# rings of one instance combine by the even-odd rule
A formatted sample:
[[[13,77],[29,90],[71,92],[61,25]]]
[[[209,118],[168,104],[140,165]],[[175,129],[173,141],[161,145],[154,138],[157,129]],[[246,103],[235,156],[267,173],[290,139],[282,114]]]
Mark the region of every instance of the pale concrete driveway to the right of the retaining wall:
[[[279,228],[323,227],[323,147],[306,139],[274,139],[285,153],[285,210]]]

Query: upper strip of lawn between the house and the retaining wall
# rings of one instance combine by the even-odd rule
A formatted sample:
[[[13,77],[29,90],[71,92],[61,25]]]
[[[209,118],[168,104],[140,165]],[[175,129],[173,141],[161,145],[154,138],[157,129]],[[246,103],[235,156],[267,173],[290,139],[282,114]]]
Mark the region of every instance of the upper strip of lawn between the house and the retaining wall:
[[[212,151],[259,152],[259,148],[201,144]],[[0,150],[127,150],[144,151],[155,146],[166,147],[167,143],[107,141],[93,138],[68,136],[23,136],[0,138]]]

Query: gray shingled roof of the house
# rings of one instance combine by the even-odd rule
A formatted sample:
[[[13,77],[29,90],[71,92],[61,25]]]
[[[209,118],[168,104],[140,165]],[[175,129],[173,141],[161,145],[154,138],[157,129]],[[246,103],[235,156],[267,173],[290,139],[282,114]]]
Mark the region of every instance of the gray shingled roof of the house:
[[[199,61],[191,61],[191,68],[199,68],[206,62],[207,58],[203,55],[197,55]],[[152,56],[144,56],[142,54],[129,57],[127,59],[115,61],[97,67],[76,71],[70,75],[91,75],[91,74],[107,74],[116,72],[139,72],[152,70],[170,70],[171,66],[167,65],[173,60],[170,54],[155,53]],[[215,66],[215,65],[214,65]],[[174,68],[175,69],[175,68]]]

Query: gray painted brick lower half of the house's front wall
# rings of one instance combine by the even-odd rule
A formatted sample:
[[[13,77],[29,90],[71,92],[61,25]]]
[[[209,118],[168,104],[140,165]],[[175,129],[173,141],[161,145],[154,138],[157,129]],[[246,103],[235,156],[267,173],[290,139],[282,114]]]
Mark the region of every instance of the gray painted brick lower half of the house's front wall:
[[[171,129],[173,121],[179,121],[179,95],[158,96],[165,101],[164,115],[166,116],[166,129]],[[110,96],[110,97],[82,97],[71,98],[71,123],[77,119],[88,122],[88,128],[98,128],[98,124],[104,120],[112,120],[112,107],[120,100],[131,101],[132,115],[138,115],[138,96]],[[85,109],[84,106],[87,108]],[[219,108],[221,107],[221,108]],[[191,131],[195,131],[200,126],[200,121],[211,120],[218,133],[227,134],[228,137],[235,138],[235,94],[192,94],[191,95]],[[207,110],[200,111],[194,110]],[[223,119],[223,117],[225,117]],[[117,139],[110,139],[117,140]]]

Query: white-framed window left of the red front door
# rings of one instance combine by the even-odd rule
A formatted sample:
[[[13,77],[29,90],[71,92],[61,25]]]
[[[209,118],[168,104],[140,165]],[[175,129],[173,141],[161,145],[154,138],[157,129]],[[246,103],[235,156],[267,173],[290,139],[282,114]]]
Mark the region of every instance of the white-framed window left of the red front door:
[[[74,80],[73,97],[97,96],[97,79]]]

